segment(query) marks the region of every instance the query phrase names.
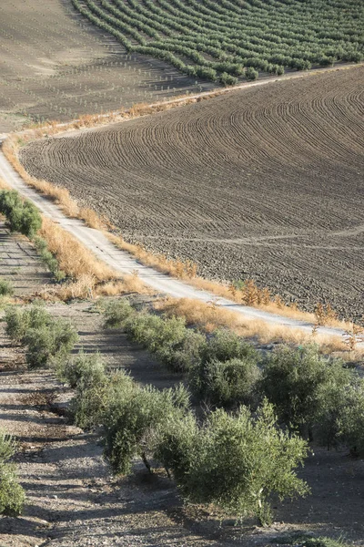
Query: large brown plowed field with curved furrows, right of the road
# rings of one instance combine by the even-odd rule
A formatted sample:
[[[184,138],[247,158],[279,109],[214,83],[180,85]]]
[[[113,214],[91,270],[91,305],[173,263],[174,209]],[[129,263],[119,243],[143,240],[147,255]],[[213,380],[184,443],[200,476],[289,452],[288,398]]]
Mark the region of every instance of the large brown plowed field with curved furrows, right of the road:
[[[308,308],[364,312],[364,68],[37,141],[25,168],[126,240]]]

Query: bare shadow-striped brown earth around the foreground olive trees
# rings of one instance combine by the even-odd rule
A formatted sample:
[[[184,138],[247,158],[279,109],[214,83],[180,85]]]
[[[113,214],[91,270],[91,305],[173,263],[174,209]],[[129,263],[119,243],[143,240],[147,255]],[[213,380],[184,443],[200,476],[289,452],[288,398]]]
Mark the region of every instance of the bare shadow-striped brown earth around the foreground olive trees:
[[[8,236],[8,245],[10,239]],[[16,246],[17,263],[25,265],[32,246]],[[15,253],[14,251],[14,253]],[[10,252],[9,257],[14,253]],[[34,261],[36,255],[34,255]],[[16,266],[15,266],[16,268]],[[39,290],[39,274],[28,270],[20,294]],[[0,275],[12,276],[0,262]],[[168,387],[181,378],[159,366],[120,330],[103,329],[95,302],[47,304],[54,315],[68,317],[80,335],[76,349],[100,349],[109,366],[125,367],[136,380]],[[50,370],[28,371],[24,349],[12,346],[0,322],[0,428],[15,435],[15,456],[27,501],[24,514],[0,517],[3,547],[274,547],[275,539],[293,531],[343,537],[364,545],[362,522],[364,462],[345,452],[315,450],[301,476],[312,495],[275,504],[276,522],[258,528],[254,522],[234,526],[212,508],[184,506],[163,473],[150,476],[136,462],[129,479],[111,476],[96,434],[86,434],[56,413],[70,396]]]

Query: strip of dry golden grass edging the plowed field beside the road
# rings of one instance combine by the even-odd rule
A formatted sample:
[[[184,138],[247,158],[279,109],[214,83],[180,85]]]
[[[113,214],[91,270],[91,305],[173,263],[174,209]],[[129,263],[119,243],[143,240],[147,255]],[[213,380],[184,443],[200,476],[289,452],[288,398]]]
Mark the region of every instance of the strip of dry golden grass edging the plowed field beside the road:
[[[215,94],[213,95],[213,97],[215,97]],[[207,98],[210,98],[210,96],[208,96]],[[193,101],[194,99],[187,99],[187,104],[191,104],[191,100]],[[184,104],[185,102],[178,102],[174,106],[182,106]],[[163,103],[160,106],[157,105],[156,111],[160,111],[160,107],[163,107]],[[126,115],[131,116],[134,119],[134,117],[144,115],[145,112],[147,112],[147,114],[150,114],[151,109],[153,110],[154,108],[140,106],[140,108],[133,108],[131,109],[131,111],[128,110]],[[90,124],[98,124],[99,121],[100,119],[97,116],[94,119],[89,119],[89,117],[86,117],[84,119],[77,120],[72,124],[66,125],[68,129],[75,129],[75,126],[77,129],[79,129],[80,127],[86,129]],[[102,122],[104,123],[105,120],[102,119]],[[64,130],[64,126],[65,124],[53,124],[51,126],[52,132],[56,134],[59,129]],[[50,132],[49,126],[46,126],[45,131],[46,135],[48,135]],[[16,172],[22,177],[22,179],[27,184],[35,188],[36,191],[39,191],[41,194],[44,194],[50,197],[53,201],[55,201],[56,204],[62,208],[62,211],[66,214],[66,216],[69,216],[71,218],[78,218],[86,222],[86,225],[88,227],[95,228],[96,230],[102,230],[106,234],[106,237],[112,243],[116,244],[116,247],[123,251],[126,251],[127,253],[130,253],[132,256],[136,257],[136,259],[140,263],[151,266],[152,268],[155,268],[158,272],[161,272],[163,274],[168,274],[172,277],[176,277],[177,279],[181,279],[185,283],[191,284],[197,289],[205,290],[212,294],[215,294],[216,296],[230,299],[237,304],[246,303],[249,305],[253,305],[256,308],[264,310],[268,313],[281,315],[282,317],[297,319],[312,325],[337,326],[348,332],[352,328],[352,325],[350,325],[350,323],[339,321],[335,315],[327,314],[325,308],[323,309],[323,314],[321,316],[319,316],[317,313],[311,314],[299,310],[297,304],[295,303],[285,304],[278,294],[270,294],[268,289],[259,289],[253,281],[248,281],[246,289],[239,289],[234,284],[221,284],[197,275],[197,265],[189,260],[183,261],[173,258],[167,259],[166,255],[163,253],[149,252],[145,247],[143,247],[143,245],[127,243],[122,236],[115,234],[115,226],[113,226],[111,222],[108,221],[105,215],[103,215],[103,217],[100,217],[94,210],[88,207],[78,207],[77,202],[71,198],[69,191],[67,191],[66,189],[55,186],[50,182],[40,181],[35,179],[34,177],[29,176],[29,174],[26,172],[26,170],[18,160],[19,145],[20,143],[24,144],[27,139],[30,139],[30,142],[35,139],[42,139],[44,138],[45,134],[41,128],[38,128],[35,131],[23,131],[18,135],[20,135],[20,137],[16,137],[16,135],[13,135],[5,140],[5,144],[3,145],[3,151],[6,159],[11,163],[11,165],[15,168]],[[88,279],[86,280],[86,285],[90,285],[90,291],[93,283]],[[98,289],[98,294],[116,294],[117,287],[119,287],[118,290],[120,291],[125,290],[125,287],[137,290],[137,292],[144,292],[146,290],[142,284],[138,283],[138,280],[135,276],[131,276],[130,278],[126,276],[126,278],[124,279],[124,284],[110,284],[110,286],[108,287],[101,287]],[[75,289],[72,288],[72,290],[75,292]],[[84,294],[85,290],[86,289],[82,289],[81,292]],[[68,297],[68,295],[72,294],[72,291],[61,291],[58,292],[58,294],[63,295],[62,297]],[[209,316],[208,322],[211,323],[211,316],[208,311],[207,316]],[[227,320],[222,317],[219,321],[222,321],[222,324],[231,323],[231,319]],[[261,330],[261,328],[259,327],[258,330]],[[280,333],[281,331],[279,331],[278,329],[277,332]],[[271,329],[269,331],[269,334],[267,333],[267,335],[265,336],[266,340],[268,340],[269,336],[272,335]],[[298,338],[299,335],[295,337],[295,339]]]

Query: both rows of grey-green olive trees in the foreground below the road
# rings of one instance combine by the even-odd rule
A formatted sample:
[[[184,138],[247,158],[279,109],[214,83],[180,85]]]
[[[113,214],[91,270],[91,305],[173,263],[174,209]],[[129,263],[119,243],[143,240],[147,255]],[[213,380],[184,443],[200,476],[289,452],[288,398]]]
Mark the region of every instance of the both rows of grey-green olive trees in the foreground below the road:
[[[43,305],[10,306],[5,322],[30,368],[50,366],[75,389],[70,418],[101,427],[116,474],[131,473],[140,458],[150,472],[164,468],[187,501],[267,524],[272,496],[308,495],[297,472],[312,441],[364,455],[364,381],[316,346],[262,352],[226,329],[204,335],[180,318],[109,302],[107,328],[123,328],[185,374],[185,385],[158,390],[108,370],[97,353],[72,354],[76,330]]]

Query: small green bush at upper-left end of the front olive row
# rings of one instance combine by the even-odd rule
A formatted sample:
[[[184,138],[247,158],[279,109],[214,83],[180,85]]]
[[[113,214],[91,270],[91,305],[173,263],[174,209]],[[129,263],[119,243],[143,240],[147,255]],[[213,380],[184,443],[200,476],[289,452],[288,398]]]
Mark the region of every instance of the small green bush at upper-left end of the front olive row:
[[[27,309],[13,305],[5,310],[6,335],[16,342],[22,342],[29,329],[49,325],[51,321],[52,316],[40,304]]]

